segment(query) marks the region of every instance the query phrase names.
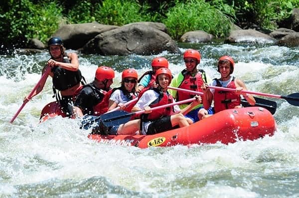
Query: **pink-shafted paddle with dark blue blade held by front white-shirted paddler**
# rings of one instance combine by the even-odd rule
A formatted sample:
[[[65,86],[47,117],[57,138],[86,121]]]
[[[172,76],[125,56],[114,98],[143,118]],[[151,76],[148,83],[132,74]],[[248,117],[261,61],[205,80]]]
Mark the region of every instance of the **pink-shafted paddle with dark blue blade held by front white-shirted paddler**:
[[[189,102],[192,102],[194,100],[195,100],[195,98],[190,98],[190,99],[187,99],[187,100],[182,100],[182,101],[179,101],[179,102],[174,102],[174,103],[154,107],[154,108],[151,108],[150,110],[155,111],[157,109],[171,107],[173,105],[180,105],[180,104],[184,104],[184,103],[189,103]],[[140,115],[140,114],[143,114],[144,112],[145,112],[145,110],[137,111],[137,112],[134,112],[134,113],[129,113],[129,112],[126,112],[126,111],[123,111],[123,110],[113,111],[111,113],[106,113],[106,114],[103,114],[103,115],[99,116],[97,118],[97,120],[100,119],[100,122],[105,127],[112,127],[112,126],[115,126],[115,125],[120,125],[120,124],[127,123],[131,120],[132,116]]]

